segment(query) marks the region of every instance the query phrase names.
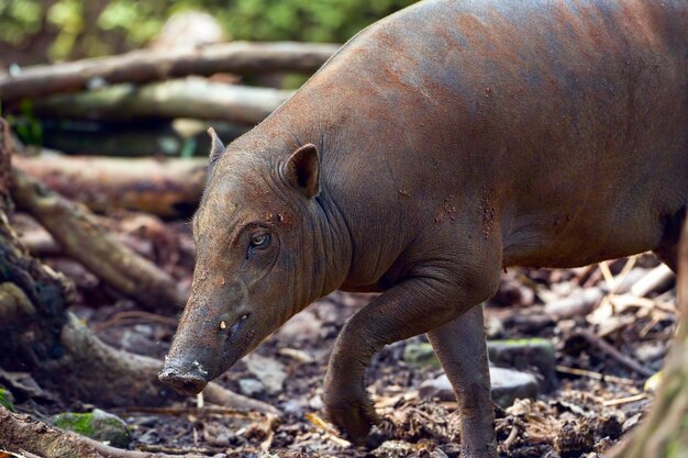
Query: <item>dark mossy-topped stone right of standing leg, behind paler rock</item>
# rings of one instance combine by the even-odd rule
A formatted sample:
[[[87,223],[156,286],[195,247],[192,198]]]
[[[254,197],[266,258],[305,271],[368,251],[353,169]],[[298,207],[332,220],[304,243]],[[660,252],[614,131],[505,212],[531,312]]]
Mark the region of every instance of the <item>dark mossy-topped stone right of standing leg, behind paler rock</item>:
[[[556,355],[554,344],[545,338],[489,340],[487,353],[490,362],[517,370],[537,369],[543,376],[544,390],[556,387]]]

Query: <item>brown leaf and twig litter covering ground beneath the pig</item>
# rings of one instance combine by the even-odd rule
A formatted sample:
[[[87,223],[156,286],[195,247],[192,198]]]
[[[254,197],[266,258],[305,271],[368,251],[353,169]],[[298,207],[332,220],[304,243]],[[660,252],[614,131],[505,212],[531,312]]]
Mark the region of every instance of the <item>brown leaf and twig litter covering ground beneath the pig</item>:
[[[132,214],[107,219],[109,227],[129,239],[131,246],[162,265],[180,282],[190,280],[192,243],[188,224],[160,223]],[[31,223],[23,221],[25,231]],[[116,298],[84,268],[51,255],[46,261],[75,278],[81,304],[75,312],[107,343],[130,351],[162,358],[175,331],[168,316],[141,313],[130,301]],[[656,261],[642,256],[637,265],[651,268]],[[618,276],[624,259],[609,264]],[[642,421],[652,403],[644,390],[646,377],[581,339],[588,329],[614,345],[622,355],[651,372],[662,367],[676,325],[673,290],[653,306],[629,306],[612,311],[604,319],[596,311],[553,321],[543,313],[543,301],[567,297],[581,288],[604,282],[600,269],[528,270],[509,269],[501,288],[486,306],[488,332],[499,338],[543,337],[556,346],[558,384],[536,400],[518,400],[507,410],[496,411],[496,429],[501,457],[509,458],[593,458],[601,456],[628,431]],[[322,386],[328,357],[339,329],[369,295],[333,293],[292,319],[270,336],[257,353],[279,361],[286,379],[274,394],[259,391],[254,396],[279,407],[280,418],[226,410],[198,411],[196,400],[170,404],[163,410],[115,410],[132,428],[133,448],[182,454],[193,451],[221,457],[457,457],[460,448],[456,404],[423,400],[418,388],[441,370],[414,369],[403,360],[409,342],[386,347],[376,356],[368,372],[382,423],[376,428],[386,442],[374,450],[357,449],[340,437],[324,420]],[[612,308],[613,309],[613,308]],[[610,331],[611,329],[611,331]],[[640,358],[642,356],[642,358]],[[584,372],[568,373],[567,368]],[[598,380],[603,376],[602,380]],[[611,377],[610,377],[611,376]],[[608,379],[604,379],[607,377]],[[243,380],[254,380],[240,361],[219,382],[241,392]],[[60,405],[45,399],[18,402],[20,411],[44,417],[65,410],[88,410],[88,405]]]

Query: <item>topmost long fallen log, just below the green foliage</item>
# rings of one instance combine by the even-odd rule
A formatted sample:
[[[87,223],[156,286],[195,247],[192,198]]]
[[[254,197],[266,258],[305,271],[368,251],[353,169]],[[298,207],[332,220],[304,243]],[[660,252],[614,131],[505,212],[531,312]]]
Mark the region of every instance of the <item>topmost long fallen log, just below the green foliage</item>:
[[[339,45],[234,42],[201,48],[146,49],[52,66],[26,67],[0,75],[0,100],[12,102],[71,92],[93,83],[147,82],[188,75],[260,74],[279,70],[312,72]]]

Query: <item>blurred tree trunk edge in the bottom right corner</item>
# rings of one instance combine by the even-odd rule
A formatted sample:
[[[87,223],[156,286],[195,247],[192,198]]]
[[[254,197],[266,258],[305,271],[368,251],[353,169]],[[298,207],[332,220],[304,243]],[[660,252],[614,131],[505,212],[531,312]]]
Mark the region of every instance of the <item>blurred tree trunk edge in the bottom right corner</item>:
[[[609,458],[688,457],[688,220],[679,248],[677,288],[681,320],[662,386],[647,418]]]

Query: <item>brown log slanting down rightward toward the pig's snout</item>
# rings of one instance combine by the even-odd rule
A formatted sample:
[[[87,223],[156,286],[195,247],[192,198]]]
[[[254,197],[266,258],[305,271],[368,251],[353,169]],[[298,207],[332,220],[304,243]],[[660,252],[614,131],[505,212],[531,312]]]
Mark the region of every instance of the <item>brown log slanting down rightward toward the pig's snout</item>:
[[[19,169],[12,170],[12,197],[62,246],[93,275],[147,309],[176,310],[186,292],[153,262],[121,245],[100,227],[86,208],[46,189]]]

